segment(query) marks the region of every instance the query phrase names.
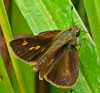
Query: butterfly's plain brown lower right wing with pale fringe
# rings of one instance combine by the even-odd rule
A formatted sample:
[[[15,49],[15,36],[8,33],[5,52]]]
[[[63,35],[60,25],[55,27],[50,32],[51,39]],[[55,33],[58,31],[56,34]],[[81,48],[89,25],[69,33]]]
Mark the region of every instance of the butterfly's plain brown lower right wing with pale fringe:
[[[78,75],[78,53],[74,46],[64,46],[55,55],[45,79],[57,87],[68,88],[75,84]]]

